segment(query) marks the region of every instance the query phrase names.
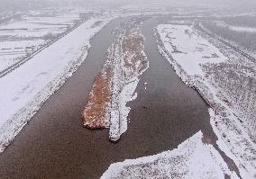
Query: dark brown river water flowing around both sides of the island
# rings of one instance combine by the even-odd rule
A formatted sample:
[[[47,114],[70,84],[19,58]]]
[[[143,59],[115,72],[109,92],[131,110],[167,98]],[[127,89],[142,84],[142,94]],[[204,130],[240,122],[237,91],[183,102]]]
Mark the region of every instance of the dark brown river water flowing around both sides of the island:
[[[99,178],[114,162],[177,148],[199,130],[213,135],[206,103],[160,56],[155,20],[142,26],[150,67],[141,76],[138,98],[129,103],[130,122],[120,142],[110,143],[108,130],[82,127],[81,112],[113,41],[111,32],[122,21],[114,20],[95,36],[78,71],[0,155],[0,178]]]

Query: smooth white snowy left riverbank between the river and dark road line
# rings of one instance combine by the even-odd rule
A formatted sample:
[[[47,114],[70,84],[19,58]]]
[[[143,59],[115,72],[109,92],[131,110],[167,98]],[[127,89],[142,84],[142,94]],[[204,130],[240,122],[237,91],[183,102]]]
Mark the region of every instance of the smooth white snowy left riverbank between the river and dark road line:
[[[89,40],[113,17],[96,17],[0,78],[0,151],[87,57]],[[95,22],[103,21],[98,26]]]

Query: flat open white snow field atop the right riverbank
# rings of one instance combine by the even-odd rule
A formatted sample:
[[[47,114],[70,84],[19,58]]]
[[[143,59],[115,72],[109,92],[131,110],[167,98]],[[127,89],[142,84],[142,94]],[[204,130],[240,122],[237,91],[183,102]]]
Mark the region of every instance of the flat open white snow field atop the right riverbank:
[[[202,75],[200,63],[218,63],[227,59],[219,49],[197,36],[191,26],[160,24],[157,29],[169,54],[177,60],[188,75]],[[171,43],[169,43],[170,40]]]

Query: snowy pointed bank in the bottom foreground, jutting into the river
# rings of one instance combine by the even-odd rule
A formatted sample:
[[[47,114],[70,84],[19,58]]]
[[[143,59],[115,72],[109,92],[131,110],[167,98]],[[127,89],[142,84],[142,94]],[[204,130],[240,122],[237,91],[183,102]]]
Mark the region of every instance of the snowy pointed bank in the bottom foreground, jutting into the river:
[[[112,164],[101,179],[224,178],[225,175],[238,178],[215,148],[204,144],[202,138],[203,134],[199,131],[171,151]]]

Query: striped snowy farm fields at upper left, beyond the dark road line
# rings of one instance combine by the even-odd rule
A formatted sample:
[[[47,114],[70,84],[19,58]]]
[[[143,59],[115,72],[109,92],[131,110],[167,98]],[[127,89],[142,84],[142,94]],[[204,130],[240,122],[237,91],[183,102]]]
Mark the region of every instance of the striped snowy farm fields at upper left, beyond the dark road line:
[[[32,11],[0,24],[0,72],[81,21],[75,10]]]

